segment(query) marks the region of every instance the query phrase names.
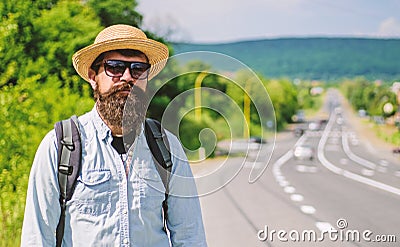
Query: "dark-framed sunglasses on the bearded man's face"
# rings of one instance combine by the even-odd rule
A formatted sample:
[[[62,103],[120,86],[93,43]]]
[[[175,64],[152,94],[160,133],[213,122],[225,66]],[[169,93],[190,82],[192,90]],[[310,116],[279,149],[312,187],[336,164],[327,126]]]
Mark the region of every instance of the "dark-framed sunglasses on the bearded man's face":
[[[135,80],[147,79],[149,76],[149,63],[142,62],[126,62],[120,60],[106,60],[104,62],[104,71],[109,77],[121,77],[126,68],[129,68],[131,76]]]

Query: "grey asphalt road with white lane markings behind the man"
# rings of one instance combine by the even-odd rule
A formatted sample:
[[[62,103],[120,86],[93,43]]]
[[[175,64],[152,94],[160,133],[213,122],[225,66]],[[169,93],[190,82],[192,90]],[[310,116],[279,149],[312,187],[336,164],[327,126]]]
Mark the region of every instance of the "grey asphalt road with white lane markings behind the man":
[[[210,247],[400,246],[400,157],[360,136],[339,98],[329,92],[319,130],[194,166]],[[302,143],[315,159],[293,158]]]

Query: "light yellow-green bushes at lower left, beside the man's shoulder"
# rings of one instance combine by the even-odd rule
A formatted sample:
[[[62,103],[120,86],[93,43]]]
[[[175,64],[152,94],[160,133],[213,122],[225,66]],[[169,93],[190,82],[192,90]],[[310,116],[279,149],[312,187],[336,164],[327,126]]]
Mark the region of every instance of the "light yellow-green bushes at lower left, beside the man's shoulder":
[[[0,91],[0,246],[18,245],[29,170],[44,135],[56,121],[93,107],[88,85],[82,97],[57,80],[42,84],[38,79],[23,79]]]

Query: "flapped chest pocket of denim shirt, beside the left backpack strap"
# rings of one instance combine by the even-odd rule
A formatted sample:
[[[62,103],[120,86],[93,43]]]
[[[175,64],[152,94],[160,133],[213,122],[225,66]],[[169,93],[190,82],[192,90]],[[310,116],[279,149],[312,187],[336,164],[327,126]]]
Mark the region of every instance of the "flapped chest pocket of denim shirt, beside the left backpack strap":
[[[82,171],[78,177],[76,207],[81,214],[99,216],[108,214],[111,207],[110,170]]]

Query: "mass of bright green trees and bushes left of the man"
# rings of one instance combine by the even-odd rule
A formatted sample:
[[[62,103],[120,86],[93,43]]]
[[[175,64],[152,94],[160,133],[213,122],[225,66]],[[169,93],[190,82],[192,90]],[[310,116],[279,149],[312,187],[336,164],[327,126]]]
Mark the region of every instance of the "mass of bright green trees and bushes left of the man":
[[[71,57],[101,26],[78,0],[5,0],[0,12],[0,246],[18,246],[36,148],[56,121],[93,107]]]

